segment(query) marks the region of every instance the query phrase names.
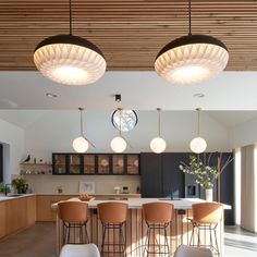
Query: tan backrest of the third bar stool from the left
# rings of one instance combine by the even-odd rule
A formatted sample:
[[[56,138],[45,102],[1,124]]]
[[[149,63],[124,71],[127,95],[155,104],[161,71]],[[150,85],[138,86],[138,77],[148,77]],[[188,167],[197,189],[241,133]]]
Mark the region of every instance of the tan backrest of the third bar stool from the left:
[[[172,220],[174,205],[168,203],[149,203],[143,205],[143,216],[147,223],[169,223]]]

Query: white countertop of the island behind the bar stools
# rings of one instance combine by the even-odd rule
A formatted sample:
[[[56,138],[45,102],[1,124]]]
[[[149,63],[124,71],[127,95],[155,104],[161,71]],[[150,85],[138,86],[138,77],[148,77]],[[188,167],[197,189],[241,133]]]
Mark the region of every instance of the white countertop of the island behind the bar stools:
[[[81,201],[78,198],[71,198],[69,200],[74,201]],[[97,200],[95,198],[90,199],[89,201],[83,201],[87,203],[88,207],[94,209],[97,208],[97,205],[100,203],[107,203],[107,201],[113,201],[113,199],[105,199],[105,200]],[[197,203],[205,203],[203,199],[198,198],[182,198],[178,200],[169,200],[169,199],[158,199],[158,198],[127,198],[126,200],[114,200],[119,203],[125,203],[128,205],[128,209],[140,209],[142,205],[152,201],[159,201],[159,203],[169,203],[174,205],[174,209],[192,209],[193,204]],[[231,206],[223,205],[224,209],[231,209]],[[52,205],[52,209],[57,209],[58,203]]]

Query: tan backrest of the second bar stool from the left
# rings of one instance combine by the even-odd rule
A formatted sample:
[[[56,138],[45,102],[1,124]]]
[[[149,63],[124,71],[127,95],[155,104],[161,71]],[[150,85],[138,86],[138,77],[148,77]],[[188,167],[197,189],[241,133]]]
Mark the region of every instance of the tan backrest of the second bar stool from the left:
[[[101,203],[97,205],[98,218],[103,223],[119,224],[126,221],[127,204],[124,203]]]

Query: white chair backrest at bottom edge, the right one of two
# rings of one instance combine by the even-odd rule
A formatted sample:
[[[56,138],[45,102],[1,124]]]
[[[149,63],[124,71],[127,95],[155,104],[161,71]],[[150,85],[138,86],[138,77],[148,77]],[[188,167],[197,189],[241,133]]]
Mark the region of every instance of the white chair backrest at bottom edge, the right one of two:
[[[181,245],[179,248],[176,248],[174,257],[213,257],[213,255],[208,248]]]

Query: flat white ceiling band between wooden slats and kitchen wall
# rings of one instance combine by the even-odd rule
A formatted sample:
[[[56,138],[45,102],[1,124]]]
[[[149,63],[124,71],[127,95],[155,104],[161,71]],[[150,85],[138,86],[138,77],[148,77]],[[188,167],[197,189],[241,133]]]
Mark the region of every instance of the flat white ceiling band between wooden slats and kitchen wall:
[[[57,85],[38,72],[0,72],[0,109],[257,110],[257,72],[223,72],[203,85],[171,86],[155,72],[107,72],[95,84]],[[46,97],[47,93],[59,95]],[[205,98],[194,98],[203,93]],[[224,119],[227,121],[227,118]]]

